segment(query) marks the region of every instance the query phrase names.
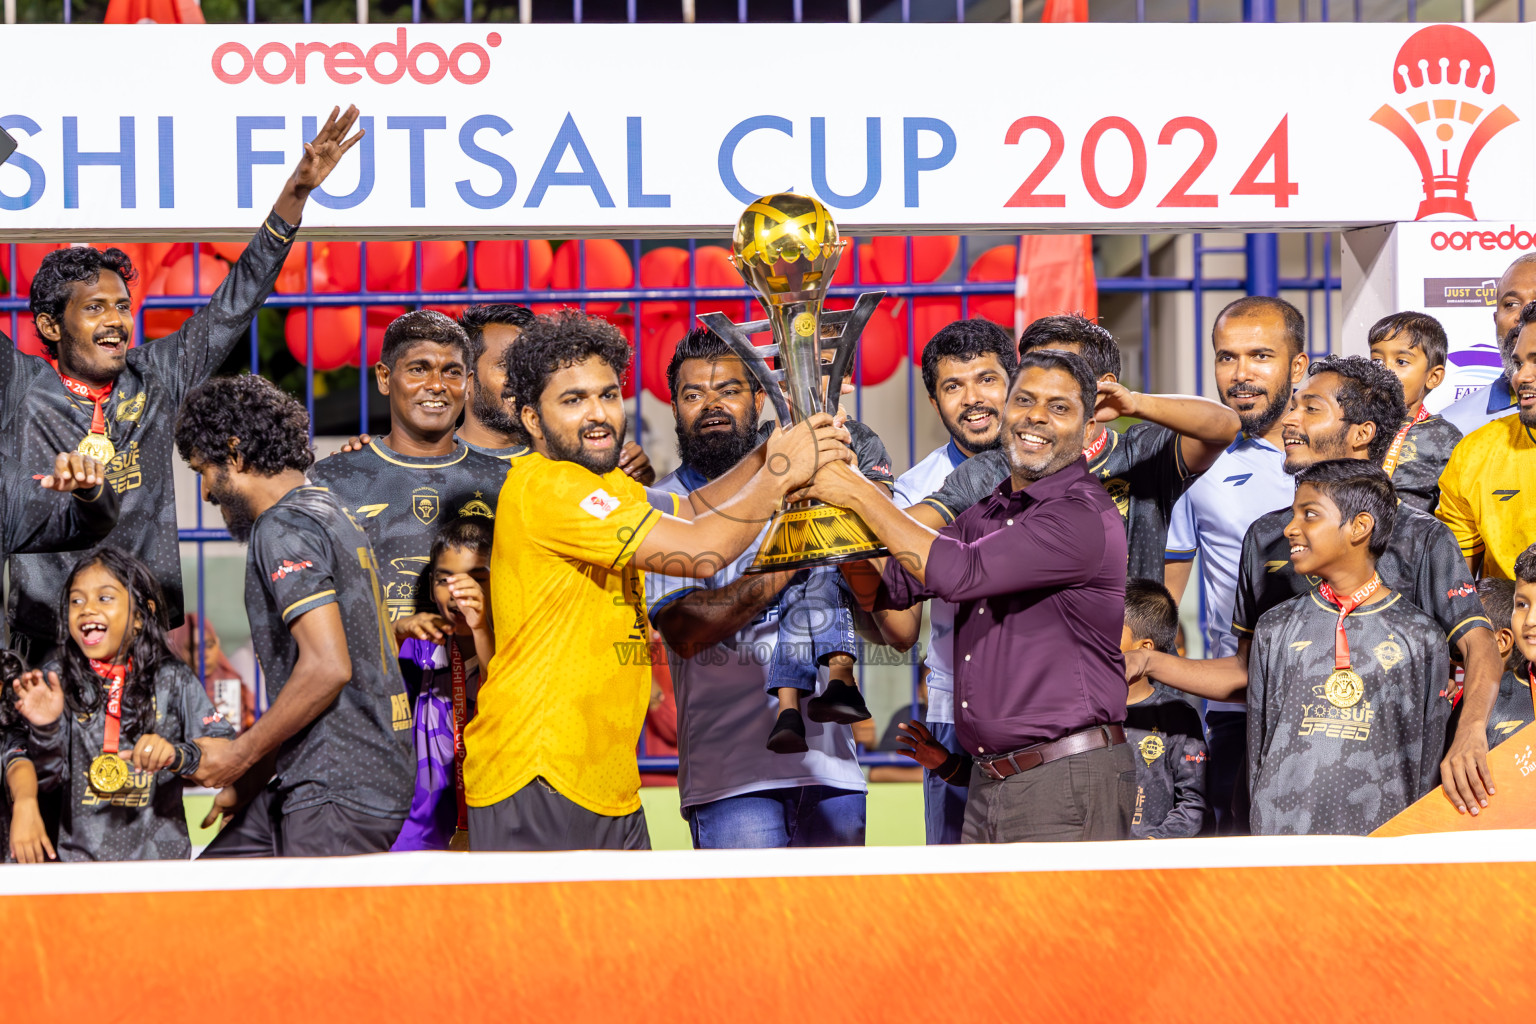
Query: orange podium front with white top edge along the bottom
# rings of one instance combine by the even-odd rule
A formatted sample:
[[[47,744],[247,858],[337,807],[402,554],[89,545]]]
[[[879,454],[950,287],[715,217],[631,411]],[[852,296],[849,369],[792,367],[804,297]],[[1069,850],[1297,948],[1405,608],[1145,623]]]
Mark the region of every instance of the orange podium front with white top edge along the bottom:
[[[1528,832],[0,867],[6,1021],[1528,1021]]]

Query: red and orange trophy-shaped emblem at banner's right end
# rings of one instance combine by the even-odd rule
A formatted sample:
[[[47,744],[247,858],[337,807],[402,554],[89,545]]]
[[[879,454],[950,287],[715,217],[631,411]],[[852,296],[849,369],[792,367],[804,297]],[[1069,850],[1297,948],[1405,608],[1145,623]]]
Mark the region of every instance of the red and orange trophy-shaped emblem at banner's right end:
[[[1382,104],[1370,120],[1396,135],[1418,164],[1424,201],[1413,220],[1435,213],[1478,220],[1467,198],[1471,164],[1488,140],[1519,120],[1502,103],[1488,109],[1488,48],[1464,28],[1432,25],[1398,51],[1392,84],[1402,109]]]

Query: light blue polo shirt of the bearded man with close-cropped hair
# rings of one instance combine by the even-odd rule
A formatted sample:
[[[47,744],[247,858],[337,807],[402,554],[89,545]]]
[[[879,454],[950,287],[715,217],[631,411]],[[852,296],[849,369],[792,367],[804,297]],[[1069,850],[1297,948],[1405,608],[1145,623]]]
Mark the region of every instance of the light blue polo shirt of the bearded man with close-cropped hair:
[[[1174,505],[1167,528],[1169,562],[1200,554],[1200,588],[1206,600],[1206,657],[1238,652],[1232,636],[1232,600],[1243,565],[1243,536],[1264,513],[1295,499],[1296,481],[1286,473],[1286,453],[1260,438],[1238,434]],[[1217,711],[1246,711],[1241,703],[1209,702]]]

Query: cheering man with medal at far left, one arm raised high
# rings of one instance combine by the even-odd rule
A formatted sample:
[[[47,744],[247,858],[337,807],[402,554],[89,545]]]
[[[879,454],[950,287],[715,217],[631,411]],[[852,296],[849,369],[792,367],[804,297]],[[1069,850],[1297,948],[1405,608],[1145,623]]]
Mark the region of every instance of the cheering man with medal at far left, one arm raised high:
[[[229,276],[175,333],[131,347],[134,264],[120,249],[75,246],[49,253],[32,278],[31,310],[48,358],[0,335],[0,447],[28,473],[48,473],[58,451],[77,448],[106,464],[121,502],[112,543],[154,570],[172,626],[181,625],[183,590],[170,424],[187,391],[249,336],[309,193],[361,138],[347,137],[356,118],[356,107],[332,111]],[[34,662],[55,643],[54,606],[71,562],[60,554],[9,560],[8,617]]]

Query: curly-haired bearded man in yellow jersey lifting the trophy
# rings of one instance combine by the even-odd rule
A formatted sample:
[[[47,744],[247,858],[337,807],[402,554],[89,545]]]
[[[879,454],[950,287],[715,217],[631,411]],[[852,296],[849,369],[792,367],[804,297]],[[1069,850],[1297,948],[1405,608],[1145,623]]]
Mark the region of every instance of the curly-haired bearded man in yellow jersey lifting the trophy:
[[[576,310],[507,350],[533,454],[507,468],[492,550],[496,656],[464,732],[470,847],[648,849],[634,745],[650,699],[641,570],[707,579],[817,462],[852,459],[825,413],[774,431],[690,494],[619,468],[630,342]]]

